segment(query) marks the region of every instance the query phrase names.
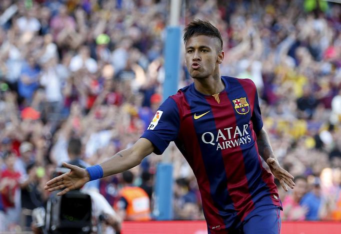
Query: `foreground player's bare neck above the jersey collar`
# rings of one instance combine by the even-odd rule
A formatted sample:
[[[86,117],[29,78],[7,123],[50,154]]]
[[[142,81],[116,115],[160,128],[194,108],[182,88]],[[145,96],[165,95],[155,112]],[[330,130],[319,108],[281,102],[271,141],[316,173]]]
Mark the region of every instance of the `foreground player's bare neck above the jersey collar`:
[[[224,90],[225,85],[220,78],[220,73],[218,73],[207,78],[194,79],[194,87],[202,94],[213,95]]]

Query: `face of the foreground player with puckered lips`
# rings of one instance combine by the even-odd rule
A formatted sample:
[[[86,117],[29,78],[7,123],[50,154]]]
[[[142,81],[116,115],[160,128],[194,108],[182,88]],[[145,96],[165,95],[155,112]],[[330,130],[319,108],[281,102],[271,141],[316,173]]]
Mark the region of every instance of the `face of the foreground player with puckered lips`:
[[[216,37],[197,35],[190,37],[185,44],[185,59],[188,72],[194,79],[206,78],[218,71],[223,51]]]

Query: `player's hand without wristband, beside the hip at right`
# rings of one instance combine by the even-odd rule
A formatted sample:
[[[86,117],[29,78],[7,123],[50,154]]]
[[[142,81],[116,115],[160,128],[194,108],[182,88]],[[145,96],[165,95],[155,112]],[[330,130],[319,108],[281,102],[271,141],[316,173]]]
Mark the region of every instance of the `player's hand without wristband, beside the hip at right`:
[[[287,184],[291,189],[295,186],[295,183],[293,183],[293,176],[285,171],[283,168],[280,167],[278,161],[274,158],[268,158],[266,160],[266,164],[269,166],[271,173],[277,180],[279,180],[280,185],[283,187],[285,191],[287,191],[287,188],[285,184]]]

